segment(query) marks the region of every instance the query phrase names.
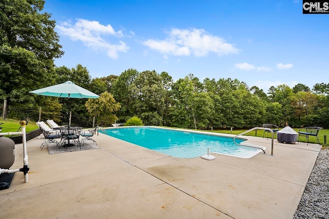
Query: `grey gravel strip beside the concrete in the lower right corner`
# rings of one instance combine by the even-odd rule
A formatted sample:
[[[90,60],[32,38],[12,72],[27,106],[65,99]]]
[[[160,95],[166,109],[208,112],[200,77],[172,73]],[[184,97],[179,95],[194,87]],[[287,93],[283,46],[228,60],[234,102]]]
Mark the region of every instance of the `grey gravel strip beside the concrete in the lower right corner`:
[[[329,219],[329,148],[320,151],[294,219]]]

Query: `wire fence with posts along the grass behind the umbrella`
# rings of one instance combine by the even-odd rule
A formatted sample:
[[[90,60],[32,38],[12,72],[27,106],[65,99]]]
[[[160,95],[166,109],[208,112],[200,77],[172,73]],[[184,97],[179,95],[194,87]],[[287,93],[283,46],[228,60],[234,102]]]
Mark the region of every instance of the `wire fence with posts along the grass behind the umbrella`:
[[[43,111],[41,108],[37,110],[17,106],[6,106],[6,109],[4,111],[4,106],[0,105],[0,117],[2,117],[3,119],[12,118],[14,120],[22,120],[23,118],[27,118],[29,121],[33,122],[46,122],[47,120],[54,120],[54,122],[56,122],[58,125],[67,125],[69,123],[69,115],[67,113],[46,112]],[[88,115],[71,115],[70,121],[70,125],[80,126],[83,128],[93,128],[96,125],[101,124],[105,126],[104,121],[97,120],[96,117]]]

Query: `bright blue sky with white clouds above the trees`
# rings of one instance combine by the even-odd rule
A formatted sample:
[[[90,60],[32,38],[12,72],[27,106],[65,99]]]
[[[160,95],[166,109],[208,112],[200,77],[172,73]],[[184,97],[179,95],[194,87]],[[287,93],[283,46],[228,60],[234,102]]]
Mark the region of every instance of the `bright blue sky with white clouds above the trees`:
[[[329,14],[302,14],[302,0],[46,0],[65,54],[94,77],[129,68],[237,78],[270,86],[329,83]]]

